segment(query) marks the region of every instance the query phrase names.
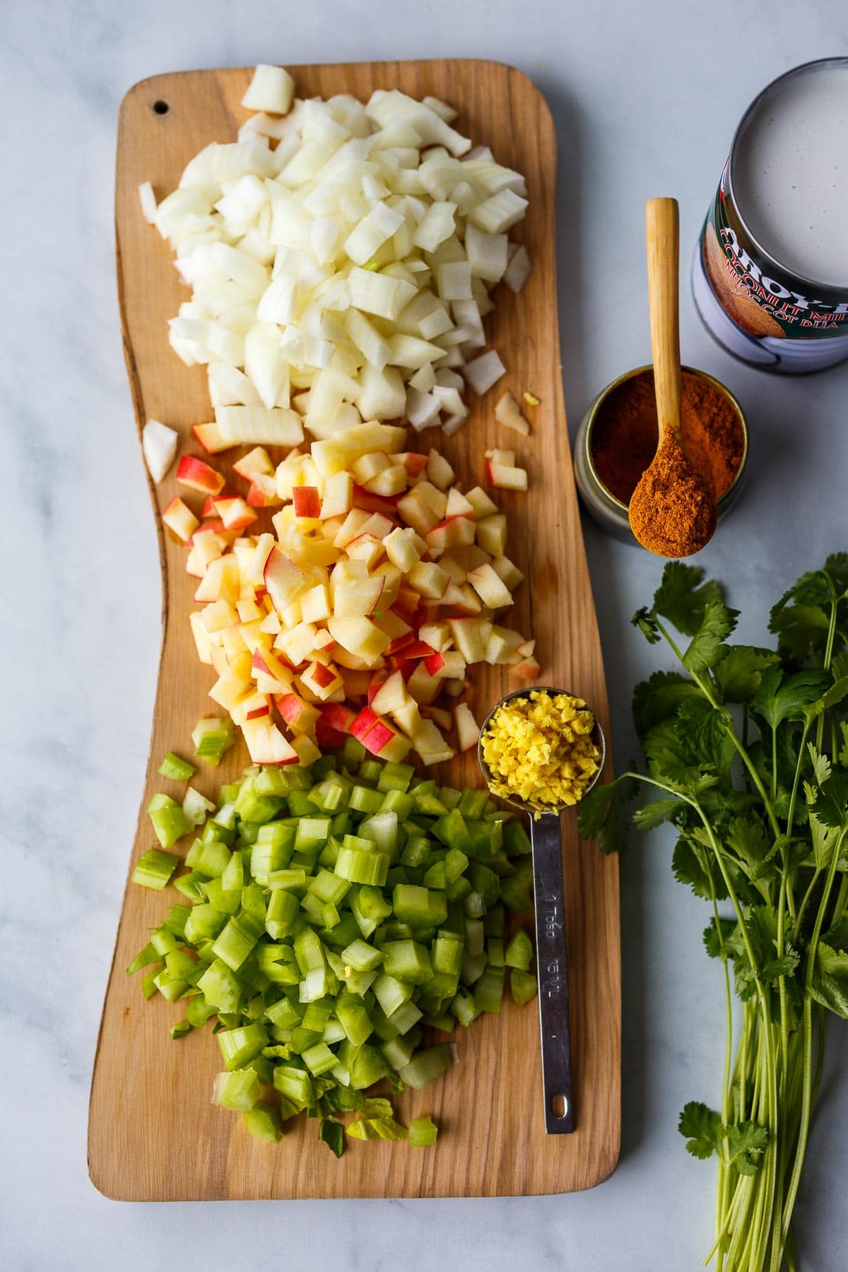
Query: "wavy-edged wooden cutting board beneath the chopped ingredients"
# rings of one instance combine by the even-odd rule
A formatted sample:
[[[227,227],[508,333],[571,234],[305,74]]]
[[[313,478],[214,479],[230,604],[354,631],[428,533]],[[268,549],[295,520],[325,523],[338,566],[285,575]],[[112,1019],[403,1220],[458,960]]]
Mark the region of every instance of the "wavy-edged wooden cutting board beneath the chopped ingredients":
[[[483,452],[517,449],[530,492],[498,492],[507,513],[507,552],[526,575],[510,623],[538,641],[543,684],[582,695],[608,725],[606,691],[591,586],[571,469],[559,375],[556,290],[557,150],[548,107],[533,83],[496,62],[362,62],[294,69],[301,97],[400,88],[434,94],[459,109],[456,127],[526,176],[530,209],[517,228],[533,258],[519,296],[506,287],[487,321],[491,342],[509,369],[455,438],[427,431],[459,473],[464,488],[483,482]],[[186,289],[169,247],[142,219],[137,187],[151,181],[161,198],[178,183],[192,155],[210,141],[230,141],[247,112],[239,100],[249,70],[189,71],[136,84],[121,107],[117,151],[117,265],[127,369],[139,427],[149,417],[178,427],[188,453],[198,453],[189,426],[211,418],[206,377],[188,370],[168,345],[167,321]],[[572,174],[577,179],[577,174]],[[540,404],[528,408],[533,435],[498,426],[495,403],[510,388]],[[128,443],[127,438],[127,443]],[[215,464],[228,472],[228,452]],[[139,457],[141,462],[141,455]],[[156,768],[167,750],[192,753],[191,729],[215,705],[206,697],[214,674],[195,654],[187,616],[193,581],[186,551],[163,532],[161,510],[178,492],[174,469],[151,486],[163,570],[164,640],[150,762],[131,865],[155,846],[144,813],[154,791],[178,795]],[[230,483],[228,482],[228,486]],[[235,478],[235,488],[240,488]],[[183,491],[184,494],[184,491]],[[191,499],[189,499],[191,501]],[[483,719],[516,687],[501,668],[474,668],[472,709]],[[247,763],[239,747],[220,770],[203,770],[196,785],[212,795]],[[442,781],[477,785],[473,752],[442,766]],[[139,977],[125,968],[183,898],[127,888],[94,1065],[89,1114],[89,1172],[95,1187],[125,1201],[272,1197],[462,1197],[570,1192],[589,1188],[614,1169],[619,1152],[620,965],[618,866],[577,836],[573,813],[563,819],[566,923],[571,973],[575,1105],[570,1136],[545,1136],[539,1065],[538,1013],[509,999],[500,1015],[458,1028],[459,1063],[422,1091],[406,1091],[399,1116],[431,1113],[440,1124],[436,1149],[406,1144],[351,1144],[341,1161],[317,1142],[317,1123],[301,1117],[280,1145],[248,1136],[240,1118],[210,1104],[221,1067],[210,1028],[172,1042],[179,1004],[145,1004]],[[184,846],[179,845],[179,850]]]

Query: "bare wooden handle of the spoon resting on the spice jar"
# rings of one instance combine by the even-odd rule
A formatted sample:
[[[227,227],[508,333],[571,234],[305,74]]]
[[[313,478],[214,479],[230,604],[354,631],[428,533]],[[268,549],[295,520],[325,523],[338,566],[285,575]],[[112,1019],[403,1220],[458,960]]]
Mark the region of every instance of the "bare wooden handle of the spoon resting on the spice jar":
[[[648,307],[653,389],[660,422],[659,444],[680,432],[679,275],[680,223],[676,198],[648,198],[645,205],[648,263]]]

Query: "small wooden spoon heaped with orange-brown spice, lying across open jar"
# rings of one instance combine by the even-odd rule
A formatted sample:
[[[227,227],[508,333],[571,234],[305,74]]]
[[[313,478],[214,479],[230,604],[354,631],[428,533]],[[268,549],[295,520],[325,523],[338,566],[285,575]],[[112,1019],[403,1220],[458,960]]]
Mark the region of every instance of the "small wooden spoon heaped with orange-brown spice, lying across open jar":
[[[680,449],[680,226],[676,198],[645,205],[651,352],[659,439],[629,506],[631,529],[657,556],[699,552],[716,529],[716,504]]]

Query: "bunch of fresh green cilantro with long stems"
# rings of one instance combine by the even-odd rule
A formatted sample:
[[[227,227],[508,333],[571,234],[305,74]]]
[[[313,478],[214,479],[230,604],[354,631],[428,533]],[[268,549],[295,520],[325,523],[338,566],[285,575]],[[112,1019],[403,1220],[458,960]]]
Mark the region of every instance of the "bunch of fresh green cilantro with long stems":
[[[643,786],[659,798],[636,827],[676,828],[674,873],[709,903],[704,946],[726,995],[721,1109],[680,1114],[689,1152],[718,1158],[709,1257],[720,1272],[793,1272],[825,1020],[848,1019],[848,553],[781,597],[774,649],[728,644],[736,617],[703,570],[666,565],[633,623],[680,669],[637,686],[646,772],[591,791],[580,831],[623,848]]]

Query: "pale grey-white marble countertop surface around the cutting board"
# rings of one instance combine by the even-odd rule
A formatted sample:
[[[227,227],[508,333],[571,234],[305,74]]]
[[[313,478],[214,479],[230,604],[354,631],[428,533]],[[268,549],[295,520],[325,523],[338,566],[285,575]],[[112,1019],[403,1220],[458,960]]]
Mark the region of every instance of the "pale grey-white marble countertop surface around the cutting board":
[[[642,205],[675,193],[694,244],[736,121],[788,66],[844,52],[829,0],[225,0],[4,6],[3,439],[11,459],[4,585],[5,1079],[0,1264],[154,1272],[236,1266],[681,1272],[711,1244],[713,1169],[676,1132],[717,1098],[721,987],[699,902],[655,834],[622,870],[623,1151],[590,1193],[498,1201],[118,1205],[85,1172],[85,1119],[147,753],[159,649],[155,536],[125,379],[114,287],[117,108],[158,71],[254,61],[491,57],[539,84],[559,135],[559,305],[572,426],[620,370],[648,360]],[[751,421],[750,485],[703,565],[760,641],[767,608],[847,546],[848,365],[770,379],[723,355],[684,295],[685,361],[723,379]],[[586,527],[614,706],[653,665],[629,626],[659,566]],[[32,682],[32,683],[31,683]],[[804,1267],[848,1263],[845,1029],[830,1032],[828,1110],[798,1206]],[[315,1241],[315,1234],[318,1244]],[[304,1255],[291,1255],[303,1250]]]

